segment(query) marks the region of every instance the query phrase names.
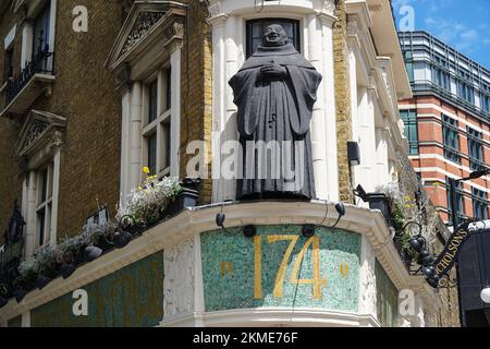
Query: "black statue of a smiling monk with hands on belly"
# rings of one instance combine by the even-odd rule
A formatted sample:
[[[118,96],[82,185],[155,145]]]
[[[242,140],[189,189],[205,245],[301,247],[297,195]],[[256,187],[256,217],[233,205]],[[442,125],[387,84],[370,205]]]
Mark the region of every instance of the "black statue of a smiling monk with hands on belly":
[[[278,24],[230,80],[238,107],[237,198],[314,198],[309,124],[321,74]]]

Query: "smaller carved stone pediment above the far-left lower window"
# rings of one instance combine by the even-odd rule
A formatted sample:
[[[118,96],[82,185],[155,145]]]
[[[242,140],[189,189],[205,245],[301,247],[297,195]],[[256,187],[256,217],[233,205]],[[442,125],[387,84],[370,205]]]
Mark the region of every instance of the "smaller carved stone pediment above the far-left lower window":
[[[15,143],[13,156],[35,168],[63,142],[66,119],[47,111],[32,110]]]

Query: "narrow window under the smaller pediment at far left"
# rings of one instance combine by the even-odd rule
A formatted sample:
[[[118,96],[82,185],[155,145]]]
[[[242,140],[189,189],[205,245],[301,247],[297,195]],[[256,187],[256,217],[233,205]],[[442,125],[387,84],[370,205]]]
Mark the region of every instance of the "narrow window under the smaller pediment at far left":
[[[53,163],[36,171],[36,248],[49,242],[52,220]]]

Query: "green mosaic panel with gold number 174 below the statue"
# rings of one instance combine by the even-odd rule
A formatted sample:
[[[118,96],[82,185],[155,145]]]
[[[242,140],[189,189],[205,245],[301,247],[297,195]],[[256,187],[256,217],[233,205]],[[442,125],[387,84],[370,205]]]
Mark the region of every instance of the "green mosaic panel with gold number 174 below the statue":
[[[255,239],[236,231],[201,233],[206,311],[306,306],[357,312],[358,233],[319,228],[308,240],[301,226],[260,226]]]

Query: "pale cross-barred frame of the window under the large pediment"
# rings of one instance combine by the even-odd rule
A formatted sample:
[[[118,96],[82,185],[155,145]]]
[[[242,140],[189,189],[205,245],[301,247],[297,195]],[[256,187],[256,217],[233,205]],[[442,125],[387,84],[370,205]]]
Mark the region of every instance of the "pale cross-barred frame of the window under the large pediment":
[[[162,69],[155,72],[144,84],[143,88],[143,128],[142,128],[142,144],[143,144],[143,164],[149,165],[148,159],[148,139],[157,135],[157,154],[156,154],[156,174],[158,178],[162,178],[171,174],[172,167],[172,153],[171,149],[167,149],[167,144],[172,144],[174,141],[172,137],[172,100],[168,100],[168,91],[172,86],[169,84],[171,79],[168,76],[171,74],[170,64],[166,64]],[[157,82],[157,117],[149,122],[150,111],[150,85]],[[171,96],[171,95],[170,95]],[[170,98],[171,99],[171,98]],[[166,139],[164,125],[168,124]],[[170,141],[170,142],[168,142]],[[164,166],[167,164],[167,166]]]

